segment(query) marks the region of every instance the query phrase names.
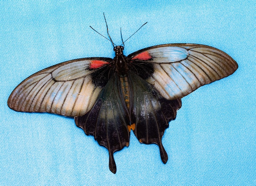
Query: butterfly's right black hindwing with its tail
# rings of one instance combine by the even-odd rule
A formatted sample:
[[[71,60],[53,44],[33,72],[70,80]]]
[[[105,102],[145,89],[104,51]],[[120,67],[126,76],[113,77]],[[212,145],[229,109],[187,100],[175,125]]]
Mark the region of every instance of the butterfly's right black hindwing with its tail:
[[[176,118],[177,110],[181,108],[181,100],[163,98],[144,79],[134,72],[130,74],[133,94],[131,120],[135,123],[134,134],[140,143],[156,143],[165,164],[168,155],[162,145],[162,136],[169,126],[169,121]]]

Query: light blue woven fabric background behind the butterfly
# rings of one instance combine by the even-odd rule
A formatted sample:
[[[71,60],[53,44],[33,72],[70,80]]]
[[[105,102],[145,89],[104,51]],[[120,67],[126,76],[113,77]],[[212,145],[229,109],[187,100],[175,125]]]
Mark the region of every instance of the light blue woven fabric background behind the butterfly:
[[[256,2],[249,0],[1,0],[0,185],[256,185]],[[239,68],[182,99],[157,145],[114,154],[72,118],[8,108],[12,90],[29,75],[64,61],[114,57],[103,12],[126,55],[166,43],[198,43],[227,52]]]

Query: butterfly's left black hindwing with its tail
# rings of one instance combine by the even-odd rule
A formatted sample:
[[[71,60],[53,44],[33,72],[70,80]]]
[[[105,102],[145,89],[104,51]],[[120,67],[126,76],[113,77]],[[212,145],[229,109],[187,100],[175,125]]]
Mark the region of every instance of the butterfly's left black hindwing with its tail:
[[[78,127],[85,134],[93,135],[94,139],[109,152],[109,169],[116,173],[113,153],[129,145],[130,131],[127,125],[127,112],[119,94],[119,78],[113,75],[103,88],[90,112],[82,117],[75,117]]]

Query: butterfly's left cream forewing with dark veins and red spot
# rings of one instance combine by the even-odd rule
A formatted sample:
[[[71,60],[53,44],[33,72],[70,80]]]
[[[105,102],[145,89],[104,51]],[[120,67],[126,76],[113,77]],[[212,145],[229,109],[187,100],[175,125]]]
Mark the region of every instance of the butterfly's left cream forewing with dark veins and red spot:
[[[43,69],[22,81],[8,99],[20,112],[82,116],[94,105],[107,80],[111,58],[81,58]],[[100,81],[95,81],[98,76]]]

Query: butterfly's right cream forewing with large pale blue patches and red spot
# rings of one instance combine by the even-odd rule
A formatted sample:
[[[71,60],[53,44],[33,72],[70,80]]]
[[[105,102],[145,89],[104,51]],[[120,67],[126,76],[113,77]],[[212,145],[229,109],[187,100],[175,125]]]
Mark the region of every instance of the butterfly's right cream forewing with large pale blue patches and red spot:
[[[128,60],[134,70],[143,69],[139,76],[168,100],[182,98],[238,68],[225,52],[196,44],[157,45],[130,54]]]

